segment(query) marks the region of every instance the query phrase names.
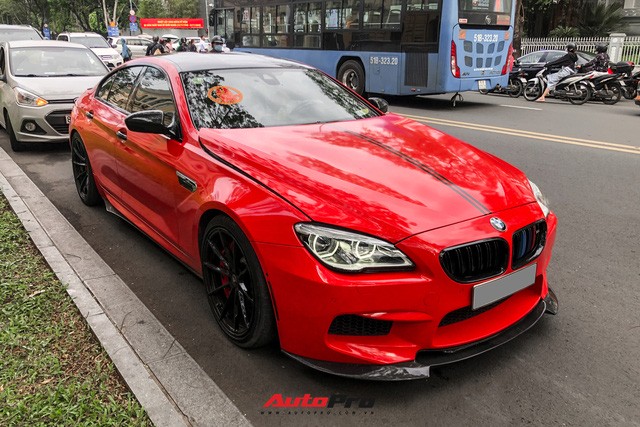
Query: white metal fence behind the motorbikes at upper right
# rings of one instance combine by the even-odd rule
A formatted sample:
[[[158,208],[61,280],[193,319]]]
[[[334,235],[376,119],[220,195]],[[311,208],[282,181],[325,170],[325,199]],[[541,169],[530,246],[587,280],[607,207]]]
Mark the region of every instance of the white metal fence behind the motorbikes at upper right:
[[[633,61],[635,64],[640,64],[640,36],[626,37],[620,34],[612,34],[611,37],[523,38],[520,49],[522,55],[541,49],[564,50],[567,47],[567,43],[573,42],[578,46],[578,50],[595,53],[596,45],[604,43],[612,46],[614,38],[616,39],[615,44],[620,45],[621,50],[616,51],[616,58],[612,57],[612,59],[616,61]],[[614,52],[610,50],[609,54],[611,55],[612,53]]]

